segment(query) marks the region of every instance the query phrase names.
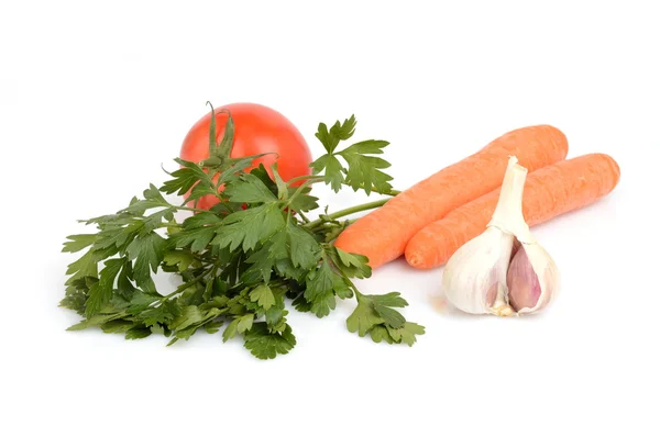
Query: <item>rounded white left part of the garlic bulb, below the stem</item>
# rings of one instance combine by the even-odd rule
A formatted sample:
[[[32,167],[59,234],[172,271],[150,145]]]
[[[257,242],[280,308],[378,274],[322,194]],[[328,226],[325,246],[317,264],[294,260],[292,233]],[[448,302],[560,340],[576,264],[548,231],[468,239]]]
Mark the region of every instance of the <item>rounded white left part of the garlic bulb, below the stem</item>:
[[[513,314],[506,287],[513,245],[514,236],[496,227],[464,244],[444,267],[447,300],[470,314]]]

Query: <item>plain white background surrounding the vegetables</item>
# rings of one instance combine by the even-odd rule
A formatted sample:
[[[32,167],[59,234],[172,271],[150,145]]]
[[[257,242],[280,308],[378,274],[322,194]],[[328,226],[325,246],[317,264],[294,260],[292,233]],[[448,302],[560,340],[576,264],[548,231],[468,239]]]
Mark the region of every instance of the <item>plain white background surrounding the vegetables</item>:
[[[658,436],[659,19],[653,1],[2,2],[0,434]],[[354,113],[356,138],[392,142],[399,189],[539,123],[622,180],[534,228],[563,279],[538,316],[459,316],[433,301],[442,269],[396,261],[360,287],[405,295],[427,328],[411,348],[348,333],[352,302],[292,314],[298,345],[273,361],[219,334],[65,332],[64,237],[161,182],[207,100],[277,109],[315,156],[318,122]]]

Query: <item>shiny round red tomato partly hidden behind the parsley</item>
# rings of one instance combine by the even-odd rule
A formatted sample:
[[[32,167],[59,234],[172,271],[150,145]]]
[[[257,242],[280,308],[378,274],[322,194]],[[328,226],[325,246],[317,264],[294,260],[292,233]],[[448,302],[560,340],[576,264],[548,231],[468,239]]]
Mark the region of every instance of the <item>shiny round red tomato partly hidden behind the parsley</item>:
[[[307,142],[294,124],[279,112],[256,103],[231,103],[216,109],[217,139],[224,135],[229,110],[234,122],[234,142],[230,156],[243,156],[275,153],[255,159],[246,171],[263,164],[271,176],[270,166],[277,163],[282,179],[288,181],[298,176],[311,175],[311,152]],[[209,127],[211,112],[201,117],[190,128],[182,145],[180,158],[199,163],[209,157]],[[300,181],[301,182],[301,181]],[[213,195],[205,195],[197,208],[208,210],[219,202]]]

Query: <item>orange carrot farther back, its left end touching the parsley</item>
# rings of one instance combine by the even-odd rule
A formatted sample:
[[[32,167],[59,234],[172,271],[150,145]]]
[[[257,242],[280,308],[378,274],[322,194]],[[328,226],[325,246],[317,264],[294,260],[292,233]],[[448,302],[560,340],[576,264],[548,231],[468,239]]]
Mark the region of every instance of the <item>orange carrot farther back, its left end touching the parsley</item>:
[[[566,137],[553,126],[512,131],[359,218],[339,235],[336,245],[365,255],[376,268],[402,256],[408,240],[427,224],[499,187],[510,155],[534,171],[566,154]]]

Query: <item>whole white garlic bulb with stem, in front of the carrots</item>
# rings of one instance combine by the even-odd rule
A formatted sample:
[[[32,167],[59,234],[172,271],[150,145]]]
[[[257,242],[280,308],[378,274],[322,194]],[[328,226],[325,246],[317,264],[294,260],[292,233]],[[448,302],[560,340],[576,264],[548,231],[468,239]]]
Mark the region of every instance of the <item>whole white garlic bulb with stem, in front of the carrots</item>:
[[[465,243],[444,267],[444,294],[466,313],[534,313],[543,309],[559,289],[559,269],[522,216],[527,169],[517,163],[515,156],[509,158],[486,231]]]

